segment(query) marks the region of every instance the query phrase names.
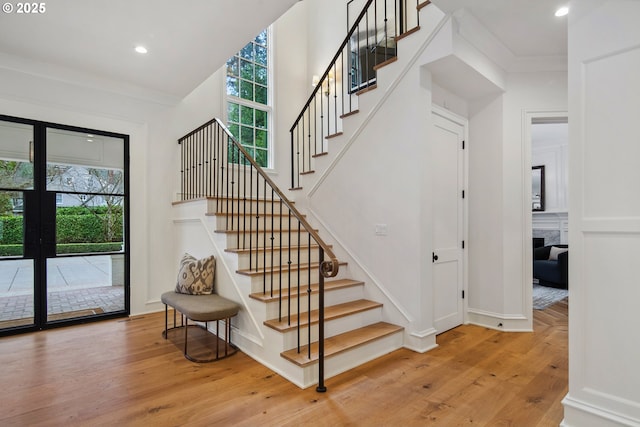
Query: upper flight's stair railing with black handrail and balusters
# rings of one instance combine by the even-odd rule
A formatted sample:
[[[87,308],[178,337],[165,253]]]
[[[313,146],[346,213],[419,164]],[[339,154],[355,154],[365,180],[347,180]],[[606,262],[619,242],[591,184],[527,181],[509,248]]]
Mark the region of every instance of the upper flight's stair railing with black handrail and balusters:
[[[327,154],[326,140],[342,134],[342,119],[358,111],[358,95],[376,87],[376,71],[396,59],[396,42],[420,28],[418,11],[429,3],[366,1],[291,126],[292,189],[313,172],[313,158]]]

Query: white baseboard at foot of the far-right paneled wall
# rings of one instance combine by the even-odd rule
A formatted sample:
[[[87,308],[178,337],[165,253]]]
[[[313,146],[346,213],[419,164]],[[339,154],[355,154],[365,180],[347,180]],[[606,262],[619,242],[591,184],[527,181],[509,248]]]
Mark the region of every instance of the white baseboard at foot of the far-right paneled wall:
[[[595,406],[589,402],[567,395],[563,400],[564,419],[562,427],[638,427],[640,419],[609,409]]]

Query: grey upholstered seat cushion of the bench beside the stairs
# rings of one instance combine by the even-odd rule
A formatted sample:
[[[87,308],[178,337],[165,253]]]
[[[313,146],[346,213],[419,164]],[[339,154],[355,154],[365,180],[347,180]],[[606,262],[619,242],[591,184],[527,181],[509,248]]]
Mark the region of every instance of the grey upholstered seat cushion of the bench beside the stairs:
[[[240,310],[240,305],[216,294],[187,295],[170,291],[163,293],[160,299],[197,322],[227,319]]]

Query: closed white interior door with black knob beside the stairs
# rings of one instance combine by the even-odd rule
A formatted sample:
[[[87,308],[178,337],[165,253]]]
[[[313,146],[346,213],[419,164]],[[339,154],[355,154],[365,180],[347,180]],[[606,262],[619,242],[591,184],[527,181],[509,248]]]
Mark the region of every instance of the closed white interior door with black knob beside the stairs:
[[[464,127],[433,113],[433,289],[438,333],[464,321]]]

